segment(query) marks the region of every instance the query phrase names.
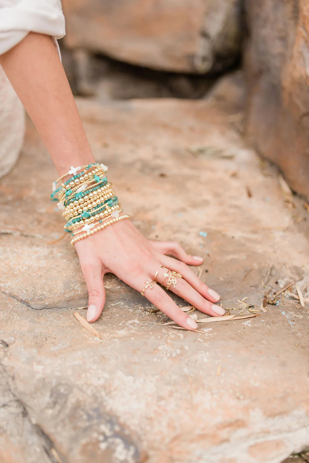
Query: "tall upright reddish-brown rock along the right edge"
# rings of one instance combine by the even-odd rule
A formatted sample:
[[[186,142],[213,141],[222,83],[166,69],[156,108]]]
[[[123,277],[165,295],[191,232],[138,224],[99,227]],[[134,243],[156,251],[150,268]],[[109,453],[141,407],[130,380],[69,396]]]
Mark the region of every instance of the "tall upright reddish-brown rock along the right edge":
[[[247,135],[309,197],[309,3],[246,2]]]

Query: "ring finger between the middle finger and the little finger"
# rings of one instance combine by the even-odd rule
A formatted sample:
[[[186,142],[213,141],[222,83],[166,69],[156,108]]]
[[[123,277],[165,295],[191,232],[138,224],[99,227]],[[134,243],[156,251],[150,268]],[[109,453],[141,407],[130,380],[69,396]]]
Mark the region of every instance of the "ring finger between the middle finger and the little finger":
[[[188,282],[192,288],[196,289],[199,294],[211,302],[218,302],[220,299],[219,294],[217,294],[213,289],[210,289],[205,283],[201,282],[198,276],[195,275],[183,262],[179,262],[178,260],[173,259],[173,257],[168,256],[161,256],[160,260],[162,265],[167,267],[167,269],[180,273],[184,280]]]

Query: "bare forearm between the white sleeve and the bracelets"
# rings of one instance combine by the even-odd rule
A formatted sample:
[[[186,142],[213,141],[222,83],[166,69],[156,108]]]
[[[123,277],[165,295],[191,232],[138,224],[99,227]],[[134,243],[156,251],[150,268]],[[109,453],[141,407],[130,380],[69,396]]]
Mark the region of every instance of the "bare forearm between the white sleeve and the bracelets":
[[[0,56],[9,81],[37,127],[59,175],[94,161],[68,79],[47,35],[30,32]]]

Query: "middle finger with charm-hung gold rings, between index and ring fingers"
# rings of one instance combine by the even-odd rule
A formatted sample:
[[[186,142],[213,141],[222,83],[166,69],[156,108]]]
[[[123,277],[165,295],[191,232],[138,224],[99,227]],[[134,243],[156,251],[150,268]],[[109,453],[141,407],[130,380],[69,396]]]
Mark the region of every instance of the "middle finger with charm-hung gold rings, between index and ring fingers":
[[[168,274],[168,270],[163,267],[156,276],[156,281],[161,284],[163,282],[165,287],[168,282],[168,277],[166,275],[170,275],[170,273]],[[173,293],[187,300],[189,304],[191,304],[193,307],[196,307],[201,312],[208,313],[213,317],[224,315],[225,313],[225,310],[222,307],[216,306],[209,300],[205,299],[200,293],[198,293],[196,289],[192,288],[192,286],[189,285],[189,283],[187,283],[183,278],[176,277],[175,287],[172,283],[169,289],[173,291]]]

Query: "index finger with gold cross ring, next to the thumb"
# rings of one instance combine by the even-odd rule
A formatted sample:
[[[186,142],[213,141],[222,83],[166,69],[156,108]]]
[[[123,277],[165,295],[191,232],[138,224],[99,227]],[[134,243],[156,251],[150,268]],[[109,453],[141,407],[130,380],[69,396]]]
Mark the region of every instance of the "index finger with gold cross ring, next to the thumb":
[[[147,283],[145,283],[146,281],[152,281],[152,278],[147,274],[144,276],[140,275],[134,280],[134,282],[130,282],[129,284],[132,288],[141,291],[145,286],[147,286]],[[179,309],[173,299],[158,284],[153,284],[151,286],[152,288],[148,287],[145,290],[144,295],[152,304],[154,304],[155,307],[158,307],[161,312],[165,313],[168,317],[174,320],[174,322],[186,330],[197,329],[198,325],[196,322],[192,320],[188,314]]]

